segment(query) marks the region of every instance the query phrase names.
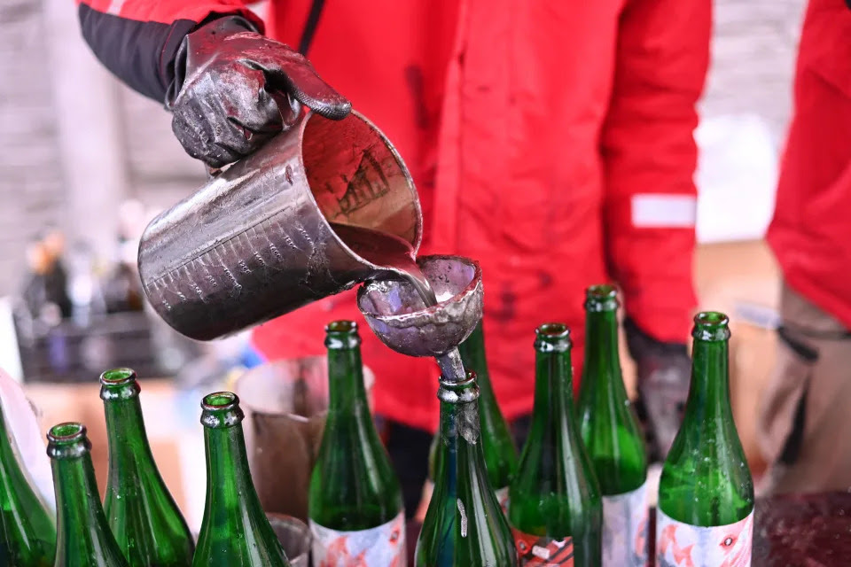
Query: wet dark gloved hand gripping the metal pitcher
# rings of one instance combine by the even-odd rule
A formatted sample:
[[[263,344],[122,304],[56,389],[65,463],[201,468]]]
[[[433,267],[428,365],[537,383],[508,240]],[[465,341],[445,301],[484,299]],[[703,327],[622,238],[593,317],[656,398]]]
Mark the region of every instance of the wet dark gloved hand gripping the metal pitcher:
[[[223,167],[292,127],[302,105],[333,120],[352,105],[308,60],[238,16],[215,19],[183,39],[167,105],[175,136],[193,158]]]

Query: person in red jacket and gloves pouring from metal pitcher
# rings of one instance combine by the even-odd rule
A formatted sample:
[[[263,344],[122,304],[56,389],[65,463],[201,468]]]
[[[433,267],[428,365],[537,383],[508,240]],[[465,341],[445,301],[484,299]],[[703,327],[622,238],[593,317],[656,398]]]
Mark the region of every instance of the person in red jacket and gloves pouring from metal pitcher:
[[[296,101],[340,118],[350,100],[374,121],[417,183],[420,252],[480,261],[490,373],[508,419],[532,408],[535,327],[570,326],[578,382],[583,291],[618,283],[659,459],[688,390],[692,132],[710,4],[272,0],[265,21],[238,0],[82,0],[79,11],[98,58],[163,101],[183,147],[210,166],[286,128]],[[350,292],[263,325],[254,344],[269,359],[321,353],[336,318],[360,320]],[[363,359],[394,462],[412,463],[410,479],[402,471],[412,511],[437,370],[372,337]]]

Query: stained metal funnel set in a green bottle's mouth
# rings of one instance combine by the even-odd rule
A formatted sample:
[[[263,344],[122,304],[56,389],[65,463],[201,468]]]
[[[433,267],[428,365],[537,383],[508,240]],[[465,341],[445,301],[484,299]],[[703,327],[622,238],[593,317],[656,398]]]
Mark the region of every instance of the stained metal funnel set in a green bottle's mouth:
[[[461,256],[423,256],[417,260],[438,303],[431,307],[402,280],[364,283],[357,307],[372,331],[394,351],[438,359],[444,379],[464,380],[457,346],[481,320],[479,263]]]

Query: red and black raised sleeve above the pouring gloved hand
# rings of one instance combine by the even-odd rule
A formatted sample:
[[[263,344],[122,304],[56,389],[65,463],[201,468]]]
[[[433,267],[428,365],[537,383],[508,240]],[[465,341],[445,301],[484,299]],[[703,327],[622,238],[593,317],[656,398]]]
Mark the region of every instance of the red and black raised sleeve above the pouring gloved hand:
[[[262,31],[241,0],[76,0],[82,36],[100,61],[131,88],[163,101],[175,80],[183,37],[200,23],[239,15]]]

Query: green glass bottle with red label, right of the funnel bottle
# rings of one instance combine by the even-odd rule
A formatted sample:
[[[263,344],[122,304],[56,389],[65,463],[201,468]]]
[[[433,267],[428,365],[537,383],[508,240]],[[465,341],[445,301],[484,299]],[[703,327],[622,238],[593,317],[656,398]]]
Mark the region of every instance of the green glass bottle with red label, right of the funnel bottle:
[[[603,507],[574,421],[570,331],[535,333],[535,406],[508,503],[520,565],[598,567]]]

